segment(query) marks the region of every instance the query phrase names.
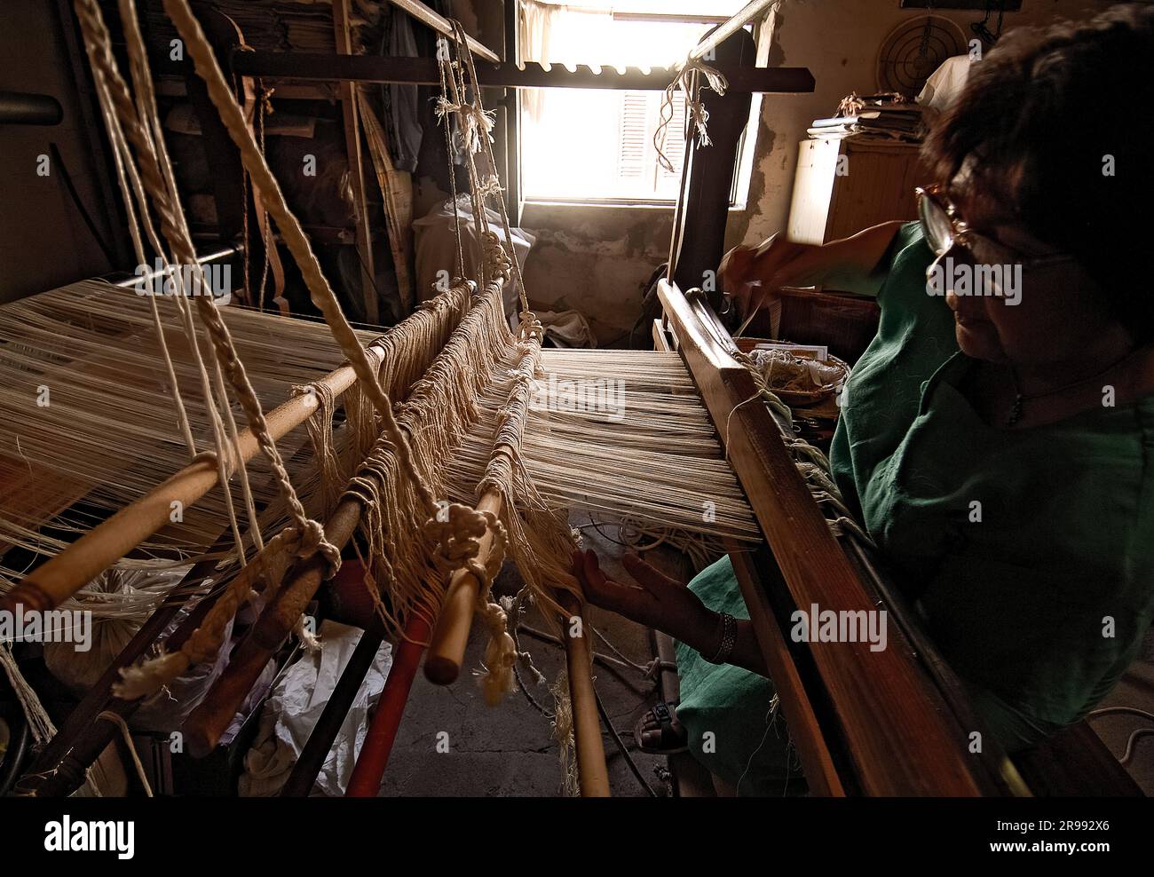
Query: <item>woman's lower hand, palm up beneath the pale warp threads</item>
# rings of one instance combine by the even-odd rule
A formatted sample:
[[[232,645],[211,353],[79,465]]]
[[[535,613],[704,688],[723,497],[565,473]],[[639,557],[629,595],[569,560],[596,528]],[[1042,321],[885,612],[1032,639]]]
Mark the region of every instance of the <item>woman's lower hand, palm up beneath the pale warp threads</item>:
[[[574,552],[572,561],[585,599],[594,606],[682,642],[698,642],[703,632],[712,634],[717,624],[715,613],[706,609],[692,591],[639,557],[627,554],[622,560],[639,587],[606,578],[594,552]]]

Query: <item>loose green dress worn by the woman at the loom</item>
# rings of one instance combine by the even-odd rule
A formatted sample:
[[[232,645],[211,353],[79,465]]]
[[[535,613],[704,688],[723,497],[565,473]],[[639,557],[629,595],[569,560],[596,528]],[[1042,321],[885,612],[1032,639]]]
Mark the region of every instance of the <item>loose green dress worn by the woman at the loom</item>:
[[[958,390],[973,360],[958,351],[944,300],[926,293],[932,254],[917,223],[901,227],[887,258],[881,323],[849,381],[833,474],[1013,751],[1084,717],[1154,617],[1154,396],[1033,429],[988,426]],[[718,565],[736,593],[727,560],[690,583],[713,602]],[[679,644],[683,657],[704,664]],[[710,676],[683,687],[691,749],[699,704],[740,700],[737,688],[772,698],[767,680],[742,673],[740,685]],[[706,760],[726,779],[734,771]]]

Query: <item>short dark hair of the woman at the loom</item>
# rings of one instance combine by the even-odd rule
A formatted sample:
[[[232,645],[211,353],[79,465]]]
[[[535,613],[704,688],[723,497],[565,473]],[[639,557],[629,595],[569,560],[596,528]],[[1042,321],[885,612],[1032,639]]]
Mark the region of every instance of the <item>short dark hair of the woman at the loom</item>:
[[[935,179],[965,167],[1035,237],[1076,256],[1139,343],[1154,339],[1142,264],[1154,249],[1152,65],[1149,6],[1016,29],[971,66],[922,152]]]

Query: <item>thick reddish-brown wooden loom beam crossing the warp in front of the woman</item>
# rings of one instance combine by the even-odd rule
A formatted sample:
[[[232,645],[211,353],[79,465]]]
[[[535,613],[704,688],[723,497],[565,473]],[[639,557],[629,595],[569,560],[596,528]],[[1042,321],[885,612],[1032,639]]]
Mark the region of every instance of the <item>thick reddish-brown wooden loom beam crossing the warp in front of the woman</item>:
[[[876,610],[767,408],[742,404],[757,395],[749,373],[676,287],[662,280],[658,294],[793,604],[807,612],[814,604],[822,610]],[[905,637],[893,627],[890,634],[889,647],[878,652],[868,643],[803,644],[834,707],[837,734],[857,786],[867,795],[996,793],[984,764],[967,754],[965,729],[952,720]]]

